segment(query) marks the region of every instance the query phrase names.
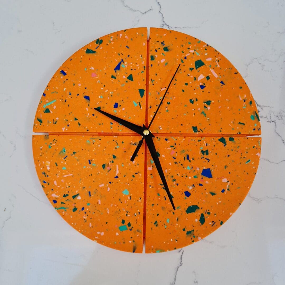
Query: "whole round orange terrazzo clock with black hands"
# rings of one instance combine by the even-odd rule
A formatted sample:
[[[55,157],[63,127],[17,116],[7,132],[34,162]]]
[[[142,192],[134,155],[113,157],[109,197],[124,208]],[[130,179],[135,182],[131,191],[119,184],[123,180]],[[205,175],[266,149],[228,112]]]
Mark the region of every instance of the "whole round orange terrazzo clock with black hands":
[[[251,187],[261,146],[236,68],[162,28],[78,50],[48,83],[33,131],[48,133],[32,144],[54,209],[93,241],[135,253],[144,241],[146,253],[178,249],[223,225]]]

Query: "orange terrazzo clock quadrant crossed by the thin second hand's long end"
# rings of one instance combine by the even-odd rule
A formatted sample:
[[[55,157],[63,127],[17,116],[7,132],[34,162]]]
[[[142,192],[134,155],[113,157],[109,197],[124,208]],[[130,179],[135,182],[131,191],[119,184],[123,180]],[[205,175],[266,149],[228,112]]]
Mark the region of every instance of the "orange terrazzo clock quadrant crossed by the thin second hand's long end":
[[[178,64],[152,133],[260,135],[255,101],[236,68],[186,34],[150,28],[148,121]]]

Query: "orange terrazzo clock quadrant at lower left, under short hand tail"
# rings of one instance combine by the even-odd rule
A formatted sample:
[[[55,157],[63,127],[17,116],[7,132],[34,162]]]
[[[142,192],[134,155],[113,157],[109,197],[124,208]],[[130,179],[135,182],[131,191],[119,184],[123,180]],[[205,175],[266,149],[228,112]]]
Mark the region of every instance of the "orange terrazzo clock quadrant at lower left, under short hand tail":
[[[34,163],[54,209],[102,245],[143,250],[144,154],[133,163],[133,137],[34,135]],[[103,154],[103,155],[100,155]]]

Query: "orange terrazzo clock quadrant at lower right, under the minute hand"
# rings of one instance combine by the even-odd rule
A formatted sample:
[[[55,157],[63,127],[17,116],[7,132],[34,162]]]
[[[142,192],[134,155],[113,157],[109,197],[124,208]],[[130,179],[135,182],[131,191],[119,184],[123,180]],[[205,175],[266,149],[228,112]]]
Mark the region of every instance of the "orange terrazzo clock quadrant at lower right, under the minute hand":
[[[241,205],[257,172],[258,137],[156,137],[176,210],[147,155],[146,253],[185,247],[206,237]]]

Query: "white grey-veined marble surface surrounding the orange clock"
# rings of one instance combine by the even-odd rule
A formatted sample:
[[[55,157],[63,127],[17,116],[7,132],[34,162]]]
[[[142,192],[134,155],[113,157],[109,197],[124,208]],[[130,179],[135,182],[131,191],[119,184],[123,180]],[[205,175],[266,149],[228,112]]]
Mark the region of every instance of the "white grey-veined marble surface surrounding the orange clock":
[[[285,1],[0,0],[0,284],[285,284]],[[214,46],[249,85],[262,124],[257,177],[218,231],[181,250],[128,254],[73,230],[32,160],[36,107],[56,69],[102,35],[182,31]]]

